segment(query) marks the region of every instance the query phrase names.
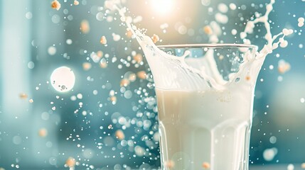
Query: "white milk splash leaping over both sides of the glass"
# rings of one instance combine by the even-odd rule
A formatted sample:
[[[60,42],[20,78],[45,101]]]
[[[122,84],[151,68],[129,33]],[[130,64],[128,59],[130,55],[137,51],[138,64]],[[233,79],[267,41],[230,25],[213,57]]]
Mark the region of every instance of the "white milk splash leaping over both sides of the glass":
[[[232,84],[237,80],[239,81],[239,79],[244,83],[250,83],[252,86],[255,86],[259,69],[262,67],[265,57],[271,53],[272,50],[277,49],[277,47],[287,46],[288,42],[287,40],[284,40],[284,37],[293,33],[293,30],[284,28],[282,32],[277,35],[272,35],[270,30],[268,17],[269,13],[273,9],[274,2],[274,0],[271,0],[266,6],[266,12],[264,15],[257,16],[257,18],[255,18],[253,21],[248,21],[245,26],[245,30],[240,33],[240,38],[242,38],[244,45],[234,46],[238,51],[240,51],[240,55],[242,55],[235,57],[235,59],[241,61],[232,61],[232,64],[236,62],[238,62],[238,64],[235,71],[231,72],[228,77],[223,77],[220,75],[220,72],[223,72],[223,69],[217,68],[215,65],[215,62],[218,61],[216,61],[216,58],[213,57],[213,53],[217,52],[218,50],[229,49],[231,45],[223,44],[219,45],[218,47],[215,46],[212,48],[213,50],[209,48],[207,51],[205,51],[204,48],[210,47],[211,45],[201,45],[205,54],[200,56],[202,57],[202,60],[199,60],[199,62],[206,62],[207,66],[196,68],[193,67],[193,64],[196,64],[198,61],[193,61],[193,64],[191,64],[192,59],[188,56],[190,54],[188,50],[185,50],[183,55],[177,57],[173,55],[173,52],[166,53],[163,50],[160,50],[159,47],[156,47],[151,38],[141,33],[141,30],[137,29],[137,27],[132,24],[133,18],[130,16],[125,16],[125,13],[127,13],[127,8],[119,7],[121,6],[120,1],[105,1],[105,7],[112,11],[117,10],[119,12],[119,16],[121,16],[121,21],[126,23],[128,30],[132,31],[133,37],[137,39],[139,45],[144,51],[144,54],[146,55],[146,59],[149,62],[149,67],[151,67],[151,72],[154,75],[156,87],[161,89],[181,90],[224,90],[232,86]],[[253,29],[257,23],[264,23],[264,28],[267,31],[264,39],[267,40],[267,44],[264,45],[259,52],[256,52],[255,55],[253,55],[252,52],[255,52],[257,47],[250,45],[251,41],[247,39],[247,35],[253,33]],[[282,37],[280,37],[281,35]],[[165,47],[166,46],[163,46],[161,48],[164,49]],[[194,50],[194,48],[190,48],[189,50]],[[191,81],[189,78],[190,74],[193,75],[191,76]],[[188,80],[186,80],[186,77],[188,77]]]

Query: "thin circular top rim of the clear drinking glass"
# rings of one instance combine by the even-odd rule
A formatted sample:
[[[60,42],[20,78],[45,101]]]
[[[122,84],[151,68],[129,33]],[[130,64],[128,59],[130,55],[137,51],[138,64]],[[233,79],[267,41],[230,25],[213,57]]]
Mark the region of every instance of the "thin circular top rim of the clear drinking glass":
[[[257,50],[257,45],[246,45],[246,44],[234,44],[234,43],[226,43],[226,44],[180,44],[180,45],[157,45],[159,48],[242,48],[242,47],[247,47],[247,48],[254,48]]]

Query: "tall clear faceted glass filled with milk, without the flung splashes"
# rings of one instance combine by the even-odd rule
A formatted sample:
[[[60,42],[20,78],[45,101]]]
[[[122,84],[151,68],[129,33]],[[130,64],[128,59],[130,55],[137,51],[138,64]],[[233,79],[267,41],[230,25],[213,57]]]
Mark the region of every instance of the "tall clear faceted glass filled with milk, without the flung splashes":
[[[141,45],[154,76],[161,169],[247,170],[254,45]]]

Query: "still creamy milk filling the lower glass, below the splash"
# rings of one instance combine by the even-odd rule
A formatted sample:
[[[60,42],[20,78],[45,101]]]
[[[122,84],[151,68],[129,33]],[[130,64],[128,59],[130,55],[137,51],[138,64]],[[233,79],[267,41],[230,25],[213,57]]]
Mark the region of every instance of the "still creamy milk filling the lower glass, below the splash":
[[[245,169],[252,93],[156,89],[162,169]]]

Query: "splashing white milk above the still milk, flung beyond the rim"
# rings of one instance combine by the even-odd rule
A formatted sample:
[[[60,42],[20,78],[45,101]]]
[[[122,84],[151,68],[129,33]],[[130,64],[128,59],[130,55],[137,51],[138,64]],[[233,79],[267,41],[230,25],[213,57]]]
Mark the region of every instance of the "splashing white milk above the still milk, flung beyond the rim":
[[[273,4],[275,3],[275,0],[271,0],[269,4],[266,6],[266,12],[263,16],[259,16],[259,14],[256,14],[256,18],[253,21],[247,21],[247,24],[245,26],[245,30],[240,33],[240,38],[243,40],[243,43],[245,45],[250,45],[251,41],[247,39],[248,34],[253,33],[253,29],[255,28],[255,24],[257,23],[263,23],[264,28],[266,29],[267,33],[264,36],[264,39],[267,40],[267,44],[262,47],[259,52],[255,54],[255,57],[251,54],[246,54],[243,59],[242,63],[240,63],[240,69],[238,72],[234,72],[234,74],[230,74],[230,79],[224,80],[219,75],[215,77],[215,75],[219,74],[218,71],[215,68],[215,64],[213,66],[213,58],[208,58],[208,62],[211,64],[211,70],[210,72],[213,72],[213,76],[207,74],[207,68],[201,68],[201,69],[193,69],[192,67],[188,67],[188,64],[186,64],[186,57],[188,57],[188,51],[181,56],[176,57],[173,55],[169,55],[163,50],[160,50],[156,45],[154,45],[154,42],[149,38],[149,36],[144,35],[141,33],[140,29],[137,29],[136,26],[134,26],[132,23],[135,23],[137,18],[133,19],[130,16],[125,16],[125,13],[127,13],[126,7],[120,7],[120,1],[118,0],[108,0],[105,1],[105,7],[108,8],[111,11],[118,11],[119,16],[121,16],[121,21],[127,25],[127,30],[130,30],[133,33],[133,37],[137,39],[139,42],[139,45],[141,45],[142,50],[144,51],[144,54],[146,55],[146,60],[149,62],[149,66],[152,69],[153,75],[159,75],[163,74],[164,72],[169,72],[171,74],[175,74],[174,72],[177,72],[175,69],[174,71],[171,71],[171,67],[166,66],[164,69],[167,70],[161,70],[157,69],[157,67],[160,67],[160,64],[176,64],[179,67],[181,67],[181,74],[196,74],[194,76],[193,81],[188,81],[182,83],[183,85],[179,84],[164,84],[161,83],[162,80],[159,80],[158,77],[154,77],[154,82],[156,86],[159,86],[161,89],[168,89],[168,86],[171,86],[170,89],[202,89],[202,86],[207,86],[207,89],[214,89],[214,90],[223,90],[228,89],[228,86],[232,86],[232,82],[235,82],[236,79],[247,79],[248,82],[252,84],[252,86],[255,86],[256,79],[257,79],[257,69],[259,70],[262,67],[262,64],[264,63],[265,57],[272,53],[273,50],[277,49],[277,47],[286,47],[288,42],[287,40],[284,40],[285,36],[290,35],[293,33],[293,30],[284,28],[281,33],[278,33],[277,35],[272,35],[270,30],[270,24],[268,22],[269,19],[269,13],[273,9]],[[281,37],[282,36],[282,37]],[[240,47],[240,50],[242,50],[242,47]],[[247,46],[243,50],[247,50]],[[211,51],[210,51],[211,52]],[[207,55],[211,56],[211,55]],[[251,65],[251,68],[250,68]],[[154,69],[156,67],[156,69]],[[183,70],[182,70],[183,69]],[[246,71],[247,70],[247,71]],[[177,74],[177,73],[176,73]],[[160,79],[168,79],[168,77],[172,76],[166,76],[162,77]],[[175,77],[175,75],[173,75]],[[181,75],[181,77],[183,77]],[[196,80],[196,77],[200,80]],[[202,79],[205,81],[203,82]],[[168,79],[168,81],[173,81],[171,79]],[[196,87],[197,86],[197,87]]]

